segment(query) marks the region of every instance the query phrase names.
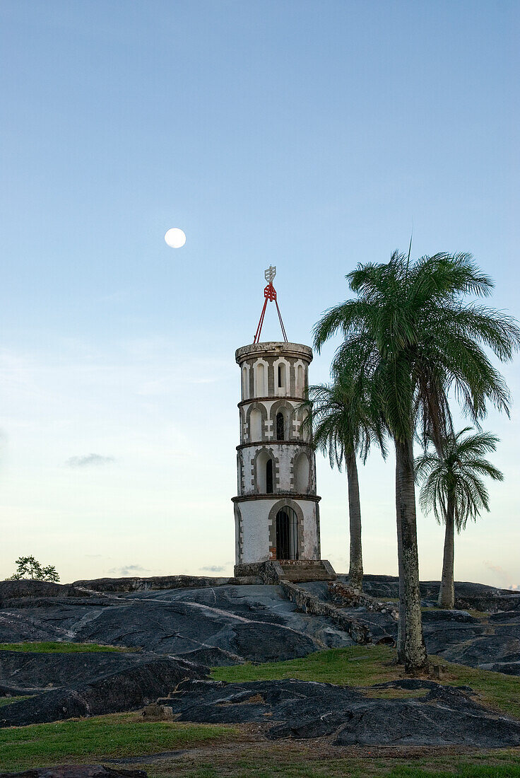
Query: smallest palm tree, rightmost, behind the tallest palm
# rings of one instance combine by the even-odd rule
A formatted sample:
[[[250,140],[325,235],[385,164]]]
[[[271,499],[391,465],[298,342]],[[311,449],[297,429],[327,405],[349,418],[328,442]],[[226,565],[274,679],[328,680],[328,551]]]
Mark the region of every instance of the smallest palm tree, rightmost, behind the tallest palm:
[[[454,530],[466,528],[468,519],[476,521],[480,510],[489,509],[489,495],[481,476],[502,481],[503,473],[484,458],[497,448],[498,438],[491,433],[466,435],[472,427],[451,433],[442,441],[440,452],[426,450],[415,461],[417,478],[424,478],[419,502],[425,513],[446,525],[439,608],[453,608]]]

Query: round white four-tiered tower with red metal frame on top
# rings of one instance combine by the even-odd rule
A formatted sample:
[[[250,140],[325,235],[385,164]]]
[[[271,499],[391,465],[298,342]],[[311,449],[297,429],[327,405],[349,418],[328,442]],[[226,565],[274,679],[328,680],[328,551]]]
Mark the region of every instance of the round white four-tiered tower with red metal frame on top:
[[[320,558],[316,460],[309,431],[302,429],[312,349],[287,340],[258,342],[267,300],[276,302],[275,272],[266,271],[255,341],[236,351],[242,377],[238,495],[233,498],[237,575],[245,570],[241,566],[268,559]],[[281,317],[280,323],[285,336]]]

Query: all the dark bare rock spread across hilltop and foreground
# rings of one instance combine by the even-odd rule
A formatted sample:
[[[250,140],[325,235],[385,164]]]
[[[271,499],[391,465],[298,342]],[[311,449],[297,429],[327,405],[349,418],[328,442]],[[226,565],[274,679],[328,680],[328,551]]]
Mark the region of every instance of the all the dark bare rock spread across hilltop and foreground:
[[[385,700],[368,699],[361,689],[310,682],[226,688],[210,682],[204,665],[305,657],[316,650],[351,646],[352,635],[362,634],[368,643],[391,643],[395,638],[395,604],[386,608],[383,603],[378,609],[336,602],[340,613],[359,627],[349,633],[341,619],[330,615],[326,582],[298,586],[300,594],[312,595],[313,613],[298,610],[283,587],[255,580],[172,576],[65,586],[0,582],[0,643],[66,640],[133,649],[113,654],[2,650],[0,697],[30,699],[2,706],[0,726],[137,710],[185,682],[172,703],[181,720],[268,720],[276,722],[271,738],[334,732],[337,743],[344,745],[520,745],[518,722],[495,716],[463,690],[433,682],[424,682],[428,688],[423,684],[417,699]],[[390,576],[367,576],[364,588],[376,598],[397,596],[396,579]],[[520,675],[520,597],[478,584],[457,584],[459,609],[442,611],[434,608],[437,591],[434,582],[421,584],[428,653]],[[329,610],[320,612],[320,604]],[[383,726],[389,720],[391,741]]]

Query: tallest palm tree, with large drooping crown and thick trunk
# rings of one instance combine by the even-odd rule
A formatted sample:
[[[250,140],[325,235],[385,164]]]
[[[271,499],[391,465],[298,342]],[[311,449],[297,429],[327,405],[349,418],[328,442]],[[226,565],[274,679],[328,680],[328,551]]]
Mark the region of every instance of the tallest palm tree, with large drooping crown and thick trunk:
[[[428,668],[421,623],[414,488],[414,435],[441,446],[452,428],[450,389],[475,421],[487,402],[508,412],[509,394],[484,348],[502,361],[520,345],[515,320],[476,303],[493,282],[469,254],[434,254],[410,264],[394,252],[389,263],[368,263],[347,275],[357,297],[326,311],[316,324],[319,351],[337,332],[344,342],[333,368],[370,378],[396,450],[396,523],[400,568],[398,659],[407,671]]]

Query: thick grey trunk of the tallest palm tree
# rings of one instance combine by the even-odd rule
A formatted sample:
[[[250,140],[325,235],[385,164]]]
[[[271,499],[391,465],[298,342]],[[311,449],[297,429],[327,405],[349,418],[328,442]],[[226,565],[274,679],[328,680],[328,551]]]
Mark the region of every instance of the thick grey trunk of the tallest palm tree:
[[[415,514],[413,440],[396,440],[396,483],[398,485],[397,527],[401,533],[403,563],[403,605],[406,636],[404,669],[407,673],[428,671],[428,654],[424,645],[417,553],[417,519]],[[403,607],[402,605],[400,606]]]

